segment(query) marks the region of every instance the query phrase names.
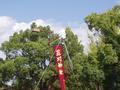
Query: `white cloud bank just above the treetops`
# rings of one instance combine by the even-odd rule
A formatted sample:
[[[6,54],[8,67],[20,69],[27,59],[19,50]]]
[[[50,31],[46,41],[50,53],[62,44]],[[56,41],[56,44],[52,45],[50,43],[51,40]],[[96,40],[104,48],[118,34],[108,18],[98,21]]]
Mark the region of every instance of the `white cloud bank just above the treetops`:
[[[27,28],[30,28],[30,25],[33,22],[41,26],[49,25],[55,33],[58,33],[61,36],[65,37],[66,26],[54,20],[37,19],[31,22],[17,22],[15,19],[11,17],[0,16],[0,44],[8,40],[9,36],[11,36],[14,32],[19,32],[20,30],[25,30]],[[68,26],[70,27],[73,26],[72,27],[73,32],[78,35],[83,45],[87,45],[88,43],[87,26],[85,24],[78,24],[78,23],[73,23],[73,24],[69,23]],[[3,54],[0,53],[0,56],[1,55],[3,56]]]

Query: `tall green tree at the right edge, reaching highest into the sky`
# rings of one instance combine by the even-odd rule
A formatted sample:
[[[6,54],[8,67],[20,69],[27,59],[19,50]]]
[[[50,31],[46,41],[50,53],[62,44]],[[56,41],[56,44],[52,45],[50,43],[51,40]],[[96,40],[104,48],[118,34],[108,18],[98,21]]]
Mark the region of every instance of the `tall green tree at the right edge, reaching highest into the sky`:
[[[105,13],[93,13],[85,18],[91,31],[100,33],[103,45],[98,48],[97,57],[105,73],[104,89],[120,89],[120,6]]]

